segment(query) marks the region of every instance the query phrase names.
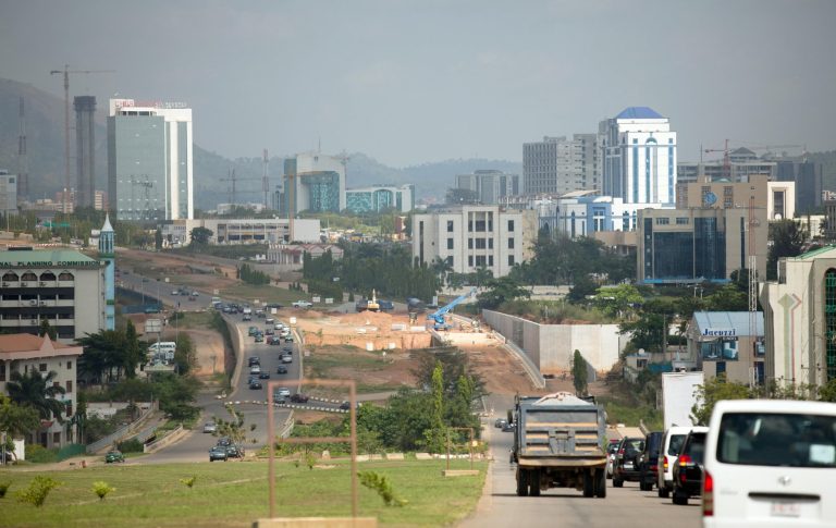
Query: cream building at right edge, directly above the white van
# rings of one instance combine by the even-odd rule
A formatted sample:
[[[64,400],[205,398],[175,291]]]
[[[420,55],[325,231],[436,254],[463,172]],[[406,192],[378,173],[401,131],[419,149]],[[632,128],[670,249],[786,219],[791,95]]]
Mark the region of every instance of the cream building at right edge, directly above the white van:
[[[836,247],[778,261],[778,279],[761,283],[765,376],[780,385],[836,379]]]

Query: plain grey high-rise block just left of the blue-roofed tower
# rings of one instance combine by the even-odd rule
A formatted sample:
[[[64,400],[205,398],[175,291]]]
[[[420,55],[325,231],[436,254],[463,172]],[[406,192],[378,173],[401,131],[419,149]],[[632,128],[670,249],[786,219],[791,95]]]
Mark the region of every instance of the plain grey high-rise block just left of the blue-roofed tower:
[[[526,194],[557,194],[601,189],[601,150],[597,134],[544,136],[522,145]]]

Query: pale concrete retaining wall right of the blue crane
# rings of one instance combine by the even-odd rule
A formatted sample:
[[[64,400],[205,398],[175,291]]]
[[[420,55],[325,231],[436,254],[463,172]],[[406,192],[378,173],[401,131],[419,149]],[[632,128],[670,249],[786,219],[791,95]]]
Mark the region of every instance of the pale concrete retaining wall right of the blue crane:
[[[617,324],[539,324],[491,310],[482,310],[482,317],[522,348],[542,373],[568,371],[576,349],[595,370],[610,370],[627,344]]]

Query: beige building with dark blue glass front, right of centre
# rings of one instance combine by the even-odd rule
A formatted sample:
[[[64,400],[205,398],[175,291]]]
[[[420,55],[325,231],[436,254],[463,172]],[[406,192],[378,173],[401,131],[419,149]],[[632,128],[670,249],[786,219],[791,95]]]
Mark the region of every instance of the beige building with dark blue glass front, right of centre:
[[[767,235],[764,208],[641,209],[638,282],[728,282],[733,271],[749,268],[751,251],[765,277]]]

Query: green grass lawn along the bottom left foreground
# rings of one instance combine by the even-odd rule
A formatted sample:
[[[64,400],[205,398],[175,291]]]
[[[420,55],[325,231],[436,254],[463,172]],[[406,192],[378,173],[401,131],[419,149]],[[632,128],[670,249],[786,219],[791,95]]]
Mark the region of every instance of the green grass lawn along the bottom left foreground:
[[[280,516],[351,515],[349,465],[331,461],[332,469],[276,465],[276,511]],[[467,461],[451,467],[469,468]],[[404,507],[386,507],[378,494],[359,488],[359,513],[376,516],[382,526],[417,527],[450,525],[474,509],[481,495],[485,463],[478,477],[441,476],[443,461],[360,463],[359,470],[385,475]],[[3,499],[0,527],[249,527],[268,516],[267,463],[200,463],[168,465],[110,465],[67,471],[44,471],[63,484],[54,489],[41,508],[16,502],[14,492],[28,486],[30,471],[2,470],[11,481]],[[180,479],[197,476],[189,489]],[[103,501],[90,491],[93,482],[115,488]]]

